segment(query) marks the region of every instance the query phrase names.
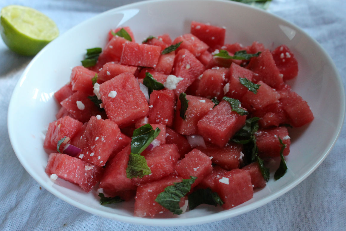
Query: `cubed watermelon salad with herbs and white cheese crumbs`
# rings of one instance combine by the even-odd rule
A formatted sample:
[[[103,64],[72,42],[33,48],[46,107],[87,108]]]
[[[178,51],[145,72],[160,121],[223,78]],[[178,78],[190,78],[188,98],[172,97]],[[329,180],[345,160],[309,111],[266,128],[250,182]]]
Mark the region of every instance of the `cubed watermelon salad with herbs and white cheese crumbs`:
[[[288,127],[313,120],[286,84],[290,49],[225,44],[226,29],[191,22],[190,33],[136,42],[129,27],[87,49],[55,99],[46,173],[98,192],[101,204],[135,200],[134,215],[181,214],[200,204],[230,209],[282,177]],[[280,161],[268,169],[268,161]]]

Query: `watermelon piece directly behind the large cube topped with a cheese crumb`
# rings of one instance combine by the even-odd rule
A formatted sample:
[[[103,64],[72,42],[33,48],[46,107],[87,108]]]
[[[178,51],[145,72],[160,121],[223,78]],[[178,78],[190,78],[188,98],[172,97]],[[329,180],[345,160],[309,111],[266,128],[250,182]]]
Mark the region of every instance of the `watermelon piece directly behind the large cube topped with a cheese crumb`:
[[[98,74],[98,79],[102,81],[107,81],[124,72],[135,74],[136,70],[137,67],[134,66],[126,66],[116,64],[115,62],[107,62],[105,65],[103,65],[102,69],[100,70]]]

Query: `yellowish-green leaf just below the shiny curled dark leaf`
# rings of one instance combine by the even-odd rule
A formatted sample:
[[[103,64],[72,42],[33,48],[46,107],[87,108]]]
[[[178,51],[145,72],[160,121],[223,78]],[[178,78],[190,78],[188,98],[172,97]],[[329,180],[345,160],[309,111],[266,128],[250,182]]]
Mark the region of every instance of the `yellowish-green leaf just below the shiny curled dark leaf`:
[[[130,179],[134,177],[142,178],[150,173],[151,170],[148,167],[145,157],[140,154],[130,153],[126,168],[126,177]]]

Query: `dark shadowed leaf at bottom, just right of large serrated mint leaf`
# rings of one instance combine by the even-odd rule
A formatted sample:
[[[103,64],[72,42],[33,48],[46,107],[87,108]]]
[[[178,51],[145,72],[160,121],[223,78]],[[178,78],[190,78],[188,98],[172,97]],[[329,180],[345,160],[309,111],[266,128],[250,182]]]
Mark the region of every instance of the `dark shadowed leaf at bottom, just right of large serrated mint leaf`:
[[[210,205],[222,205],[224,202],[221,200],[220,196],[211,191],[210,188],[198,189],[189,195],[189,209],[193,210],[200,204],[210,204]]]

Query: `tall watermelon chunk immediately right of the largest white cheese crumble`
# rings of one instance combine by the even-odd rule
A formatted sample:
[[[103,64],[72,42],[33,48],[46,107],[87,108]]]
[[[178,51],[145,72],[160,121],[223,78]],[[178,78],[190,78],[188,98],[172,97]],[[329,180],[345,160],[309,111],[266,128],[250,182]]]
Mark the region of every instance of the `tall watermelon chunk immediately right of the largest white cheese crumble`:
[[[174,90],[175,95],[179,96],[180,93],[185,92],[193,81],[203,73],[204,69],[204,65],[189,50],[179,50],[174,59],[172,74],[183,78],[183,80],[177,84]]]

